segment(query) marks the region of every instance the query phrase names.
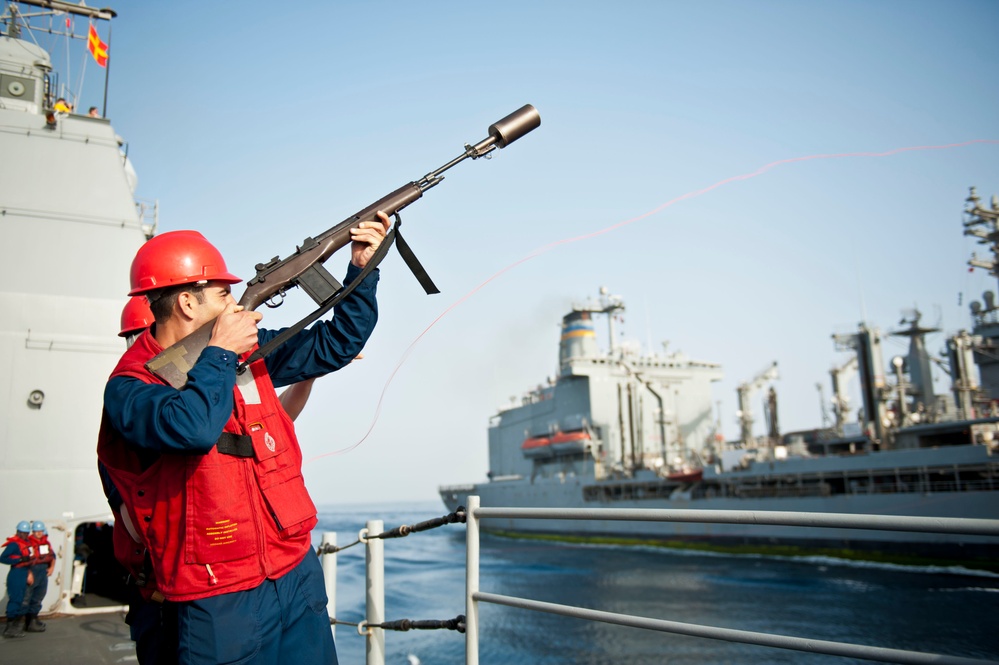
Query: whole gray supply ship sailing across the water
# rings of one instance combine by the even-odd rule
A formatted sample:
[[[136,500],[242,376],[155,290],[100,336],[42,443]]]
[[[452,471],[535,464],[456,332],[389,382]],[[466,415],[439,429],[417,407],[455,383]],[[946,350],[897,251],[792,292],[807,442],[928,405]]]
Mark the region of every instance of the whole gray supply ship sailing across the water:
[[[974,188],[964,232],[999,275],[999,201],[982,206]],[[741,435],[726,442],[711,384],[721,365],[682,353],[643,353],[616,344],[621,298],[572,306],[562,318],[558,374],[499,409],[488,429],[486,482],[440,488],[448,509],[478,495],[481,505],[538,508],[657,508],[804,511],[999,519],[999,305],[989,291],[971,304],[973,327],[947,339],[946,358],[927,350],[918,311],[886,334],[908,339],[907,355],[885,363],[885,333],[866,323],[834,335],[843,362],[831,370],[835,423],[781,433],[773,362],[738,386]],[[598,345],[597,320],[609,348]],[[936,394],[931,366],[950,375]],[[861,407],[851,418],[850,378]],[[820,384],[821,385],[821,384]],[[767,391],[767,432],[754,436],[753,397]],[[999,565],[999,539],[745,524],[492,519],[483,528],[584,540],[660,542],[677,547],[819,552],[907,561]]]

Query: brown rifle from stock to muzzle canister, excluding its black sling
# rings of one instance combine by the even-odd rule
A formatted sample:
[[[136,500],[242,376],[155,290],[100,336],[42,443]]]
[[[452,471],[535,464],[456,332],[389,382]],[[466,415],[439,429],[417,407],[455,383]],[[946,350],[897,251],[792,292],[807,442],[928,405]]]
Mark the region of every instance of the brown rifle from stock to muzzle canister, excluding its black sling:
[[[286,291],[295,286],[302,287],[320,305],[330,302],[344,287],[323,267],[323,263],[338,249],[350,244],[351,229],[362,222],[375,220],[378,211],[389,216],[398,214],[421,198],[423,192],[444,180],[442,174],[454,165],[465,159],[478,159],[498,148],[505,148],[540,125],[541,116],[530,104],[490,125],[489,136],[474,146],[466,144],[463,154],[439,169],[431,171],[420,180],[403,185],[315,238],[306,238],[288,258],[280,259],[275,256],[267,263],[257,264],[257,274],[247,282],[239,304],[247,310],[255,310],[275,296],[284,296]],[[214,320],[206,323],[170,348],[164,349],[146,363],[146,369],[174,388],[184,387],[187,373],[208,346],[214,327]]]

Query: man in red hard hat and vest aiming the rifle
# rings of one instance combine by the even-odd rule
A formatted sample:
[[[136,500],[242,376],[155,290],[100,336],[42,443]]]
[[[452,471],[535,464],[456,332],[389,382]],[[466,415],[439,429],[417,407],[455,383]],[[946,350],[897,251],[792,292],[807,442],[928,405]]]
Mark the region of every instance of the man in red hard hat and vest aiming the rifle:
[[[345,283],[357,278],[387,228],[379,214],[352,231]],[[373,271],[332,320],[237,375],[238,359],[277,332],[258,330],[260,314],[236,305],[230,285],[241,280],[219,251],[197,232],[174,231],[136,254],[129,295],[149,298],[155,323],[105,388],[98,458],[120,495],[122,523],[149,553],[156,588],[176,604],[179,662],[336,663],[311,549],[316,509],[274,386],[354,359],[377,319],[377,280]],[[145,369],[213,320],[183,389]]]

